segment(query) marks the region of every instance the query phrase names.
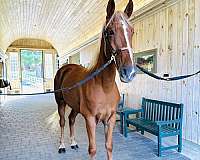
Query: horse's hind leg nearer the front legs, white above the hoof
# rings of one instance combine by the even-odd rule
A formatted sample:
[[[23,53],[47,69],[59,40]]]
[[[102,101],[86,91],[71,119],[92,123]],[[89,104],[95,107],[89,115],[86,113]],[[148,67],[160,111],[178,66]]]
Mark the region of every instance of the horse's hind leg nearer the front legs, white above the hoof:
[[[78,145],[75,141],[75,137],[74,137],[74,123],[75,123],[75,119],[76,119],[76,116],[77,116],[77,112],[74,111],[72,109],[71,113],[69,114],[69,129],[70,129],[70,141],[71,141],[71,148],[72,149],[77,149],[78,148]]]

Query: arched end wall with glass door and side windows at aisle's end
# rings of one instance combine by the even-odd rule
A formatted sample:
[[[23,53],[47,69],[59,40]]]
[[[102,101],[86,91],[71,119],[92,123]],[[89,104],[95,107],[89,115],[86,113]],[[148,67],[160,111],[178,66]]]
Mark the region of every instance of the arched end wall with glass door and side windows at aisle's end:
[[[50,43],[19,39],[8,47],[6,53],[11,92],[34,93],[53,89],[57,52]]]

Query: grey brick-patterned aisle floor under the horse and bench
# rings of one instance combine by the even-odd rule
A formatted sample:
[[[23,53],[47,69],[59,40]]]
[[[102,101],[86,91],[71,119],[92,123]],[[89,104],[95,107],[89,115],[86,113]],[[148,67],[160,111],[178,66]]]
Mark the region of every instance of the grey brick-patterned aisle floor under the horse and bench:
[[[76,140],[80,149],[71,150],[68,120],[65,129],[66,153],[58,154],[59,127],[53,96],[13,97],[0,106],[0,160],[86,160],[88,140],[81,115],[76,121]],[[67,112],[69,112],[68,110]],[[68,114],[66,114],[67,117]],[[97,129],[97,160],[106,159],[103,126]],[[118,126],[114,135],[114,160],[188,160],[176,151],[157,157],[157,143],[130,133],[124,138]]]

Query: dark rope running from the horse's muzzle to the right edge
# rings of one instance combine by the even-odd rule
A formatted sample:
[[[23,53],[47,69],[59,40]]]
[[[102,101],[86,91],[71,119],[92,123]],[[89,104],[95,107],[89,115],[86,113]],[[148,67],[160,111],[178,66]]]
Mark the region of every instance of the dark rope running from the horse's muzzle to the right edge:
[[[140,67],[138,64],[136,64],[136,67],[141,70],[143,73],[149,75],[150,77],[153,77],[155,79],[158,79],[158,80],[163,80],[163,81],[177,81],[177,80],[181,80],[181,79],[185,79],[185,78],[189,78],[189,77],[192,77],[194,75],[197,75],[200,73],[200,71],[194,73],[194,74],[188,74],[188,75],[183,75],[183,76],[177,76],[177,77],[171,77],[171,78],[163,78],[163,77],[159,77],[149,71],[147,71],[146,69]]]

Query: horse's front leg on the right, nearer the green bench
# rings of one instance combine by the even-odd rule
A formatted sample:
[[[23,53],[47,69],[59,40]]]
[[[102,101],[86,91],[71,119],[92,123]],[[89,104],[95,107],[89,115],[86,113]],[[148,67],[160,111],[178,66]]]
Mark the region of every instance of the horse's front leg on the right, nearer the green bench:
[[[108,122],[104,122],[104,131],[105,131],[105,147],[107,150],[107,159],[112,160],[112,149],[113,149],[113,142],[112,142],[112,134],[113,129],[115,127],[116,121],[116,114],[112,114]]]

